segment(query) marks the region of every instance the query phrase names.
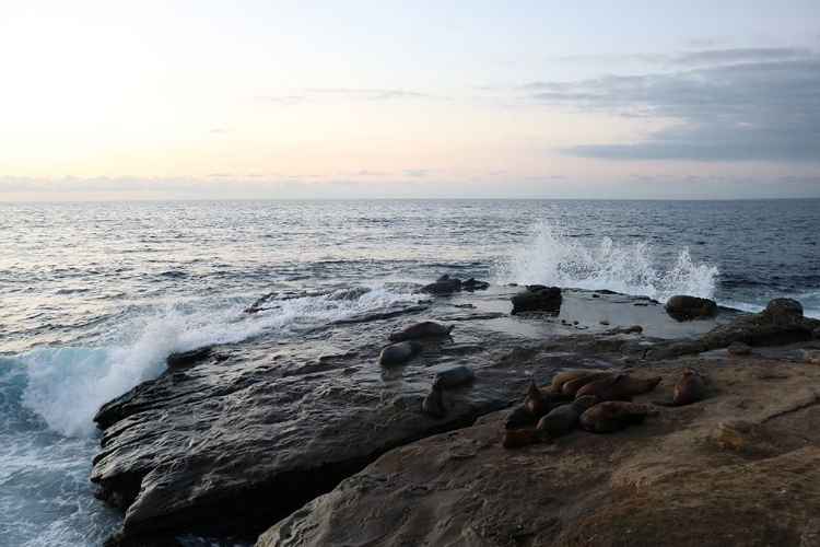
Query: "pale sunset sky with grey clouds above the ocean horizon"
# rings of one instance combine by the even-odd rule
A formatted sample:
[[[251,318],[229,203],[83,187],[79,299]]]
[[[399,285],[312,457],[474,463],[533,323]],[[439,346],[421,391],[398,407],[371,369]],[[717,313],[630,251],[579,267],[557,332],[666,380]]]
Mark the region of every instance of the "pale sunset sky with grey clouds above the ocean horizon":
[[[820,2],[0,0],[0,201],[820,197]]]

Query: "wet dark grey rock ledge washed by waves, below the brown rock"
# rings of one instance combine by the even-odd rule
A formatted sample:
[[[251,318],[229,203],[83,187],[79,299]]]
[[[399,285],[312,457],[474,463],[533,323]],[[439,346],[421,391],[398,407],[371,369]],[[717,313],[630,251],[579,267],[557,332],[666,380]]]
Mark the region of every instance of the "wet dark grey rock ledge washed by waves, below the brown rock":
[[[402,313],[216,347],[105,405],[92,480],[126,511],[109,543],[256,538],[387,451],[516,404],[530,377],[546,384],[565,368],[621,368],[647,340],[702,336],[733,316],[680,324],[648,299],[565,290],[557,317],[511,317],[516,290],[424,298]],[[453,337],[423,340],[407,364],[380,366],[387,335],[424,319],[455,324]],[[607,334],[635,324],[643,334]],[[444,418],[423,416],[434,374],[459,365],[476,380],[445,392]]]

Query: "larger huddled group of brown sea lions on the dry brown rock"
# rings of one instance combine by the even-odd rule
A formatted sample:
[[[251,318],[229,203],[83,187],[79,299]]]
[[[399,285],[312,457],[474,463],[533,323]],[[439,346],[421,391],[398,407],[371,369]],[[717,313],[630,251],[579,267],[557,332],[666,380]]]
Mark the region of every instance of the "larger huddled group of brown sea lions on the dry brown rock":
[[[660,376],[639,379],[591,370],[562,372],[543,388],[530,380],[527,398],[504,420],[501,444],[515,449],[547,443],[554,437],[571,433],[578,426],[593,433],[611,433],[657,415],[658,409],[653,405],[683,406],[703,398],[703,377],[687,366],[678,377],[670,401],[632,403],[632,397],[652,392],[660,380]]]

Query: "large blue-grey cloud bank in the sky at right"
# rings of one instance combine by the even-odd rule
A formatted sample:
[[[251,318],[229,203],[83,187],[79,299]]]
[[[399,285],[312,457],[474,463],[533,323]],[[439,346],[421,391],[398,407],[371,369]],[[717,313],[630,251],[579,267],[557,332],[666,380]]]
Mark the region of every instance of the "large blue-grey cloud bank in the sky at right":
[[[570,155],[820,162],[820,57],[816,55],[668,74],[534,82],[520,90],[529,92],[526,98],[535,103],[669,120],[668,127],[635,142],[561,150]]]

